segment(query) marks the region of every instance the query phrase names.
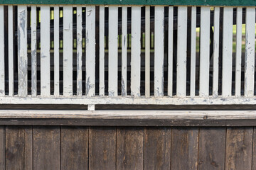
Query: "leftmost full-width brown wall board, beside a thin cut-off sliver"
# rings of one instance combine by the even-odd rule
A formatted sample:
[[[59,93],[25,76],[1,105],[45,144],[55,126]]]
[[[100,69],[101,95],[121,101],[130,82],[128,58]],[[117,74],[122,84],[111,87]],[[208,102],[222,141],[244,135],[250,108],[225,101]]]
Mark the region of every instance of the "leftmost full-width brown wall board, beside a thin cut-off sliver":
[[[33,169],[32,160],[32,128],[6,126],[6,170]]]

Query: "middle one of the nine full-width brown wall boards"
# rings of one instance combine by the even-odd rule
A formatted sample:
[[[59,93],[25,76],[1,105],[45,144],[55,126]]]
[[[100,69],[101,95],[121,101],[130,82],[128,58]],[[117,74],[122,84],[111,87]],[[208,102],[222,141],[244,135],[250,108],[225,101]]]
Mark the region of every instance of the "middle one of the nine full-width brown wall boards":
[[[144,128],[117,128],[117,169],[143,169]]]

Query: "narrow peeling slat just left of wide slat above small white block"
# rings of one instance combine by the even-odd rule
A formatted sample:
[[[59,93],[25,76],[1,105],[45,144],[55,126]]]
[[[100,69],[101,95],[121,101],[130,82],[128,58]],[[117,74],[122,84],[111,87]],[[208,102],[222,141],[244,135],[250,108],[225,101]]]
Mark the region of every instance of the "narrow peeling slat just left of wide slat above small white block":
[[[77,95],[82,96],[82,6],[77,6]]]

